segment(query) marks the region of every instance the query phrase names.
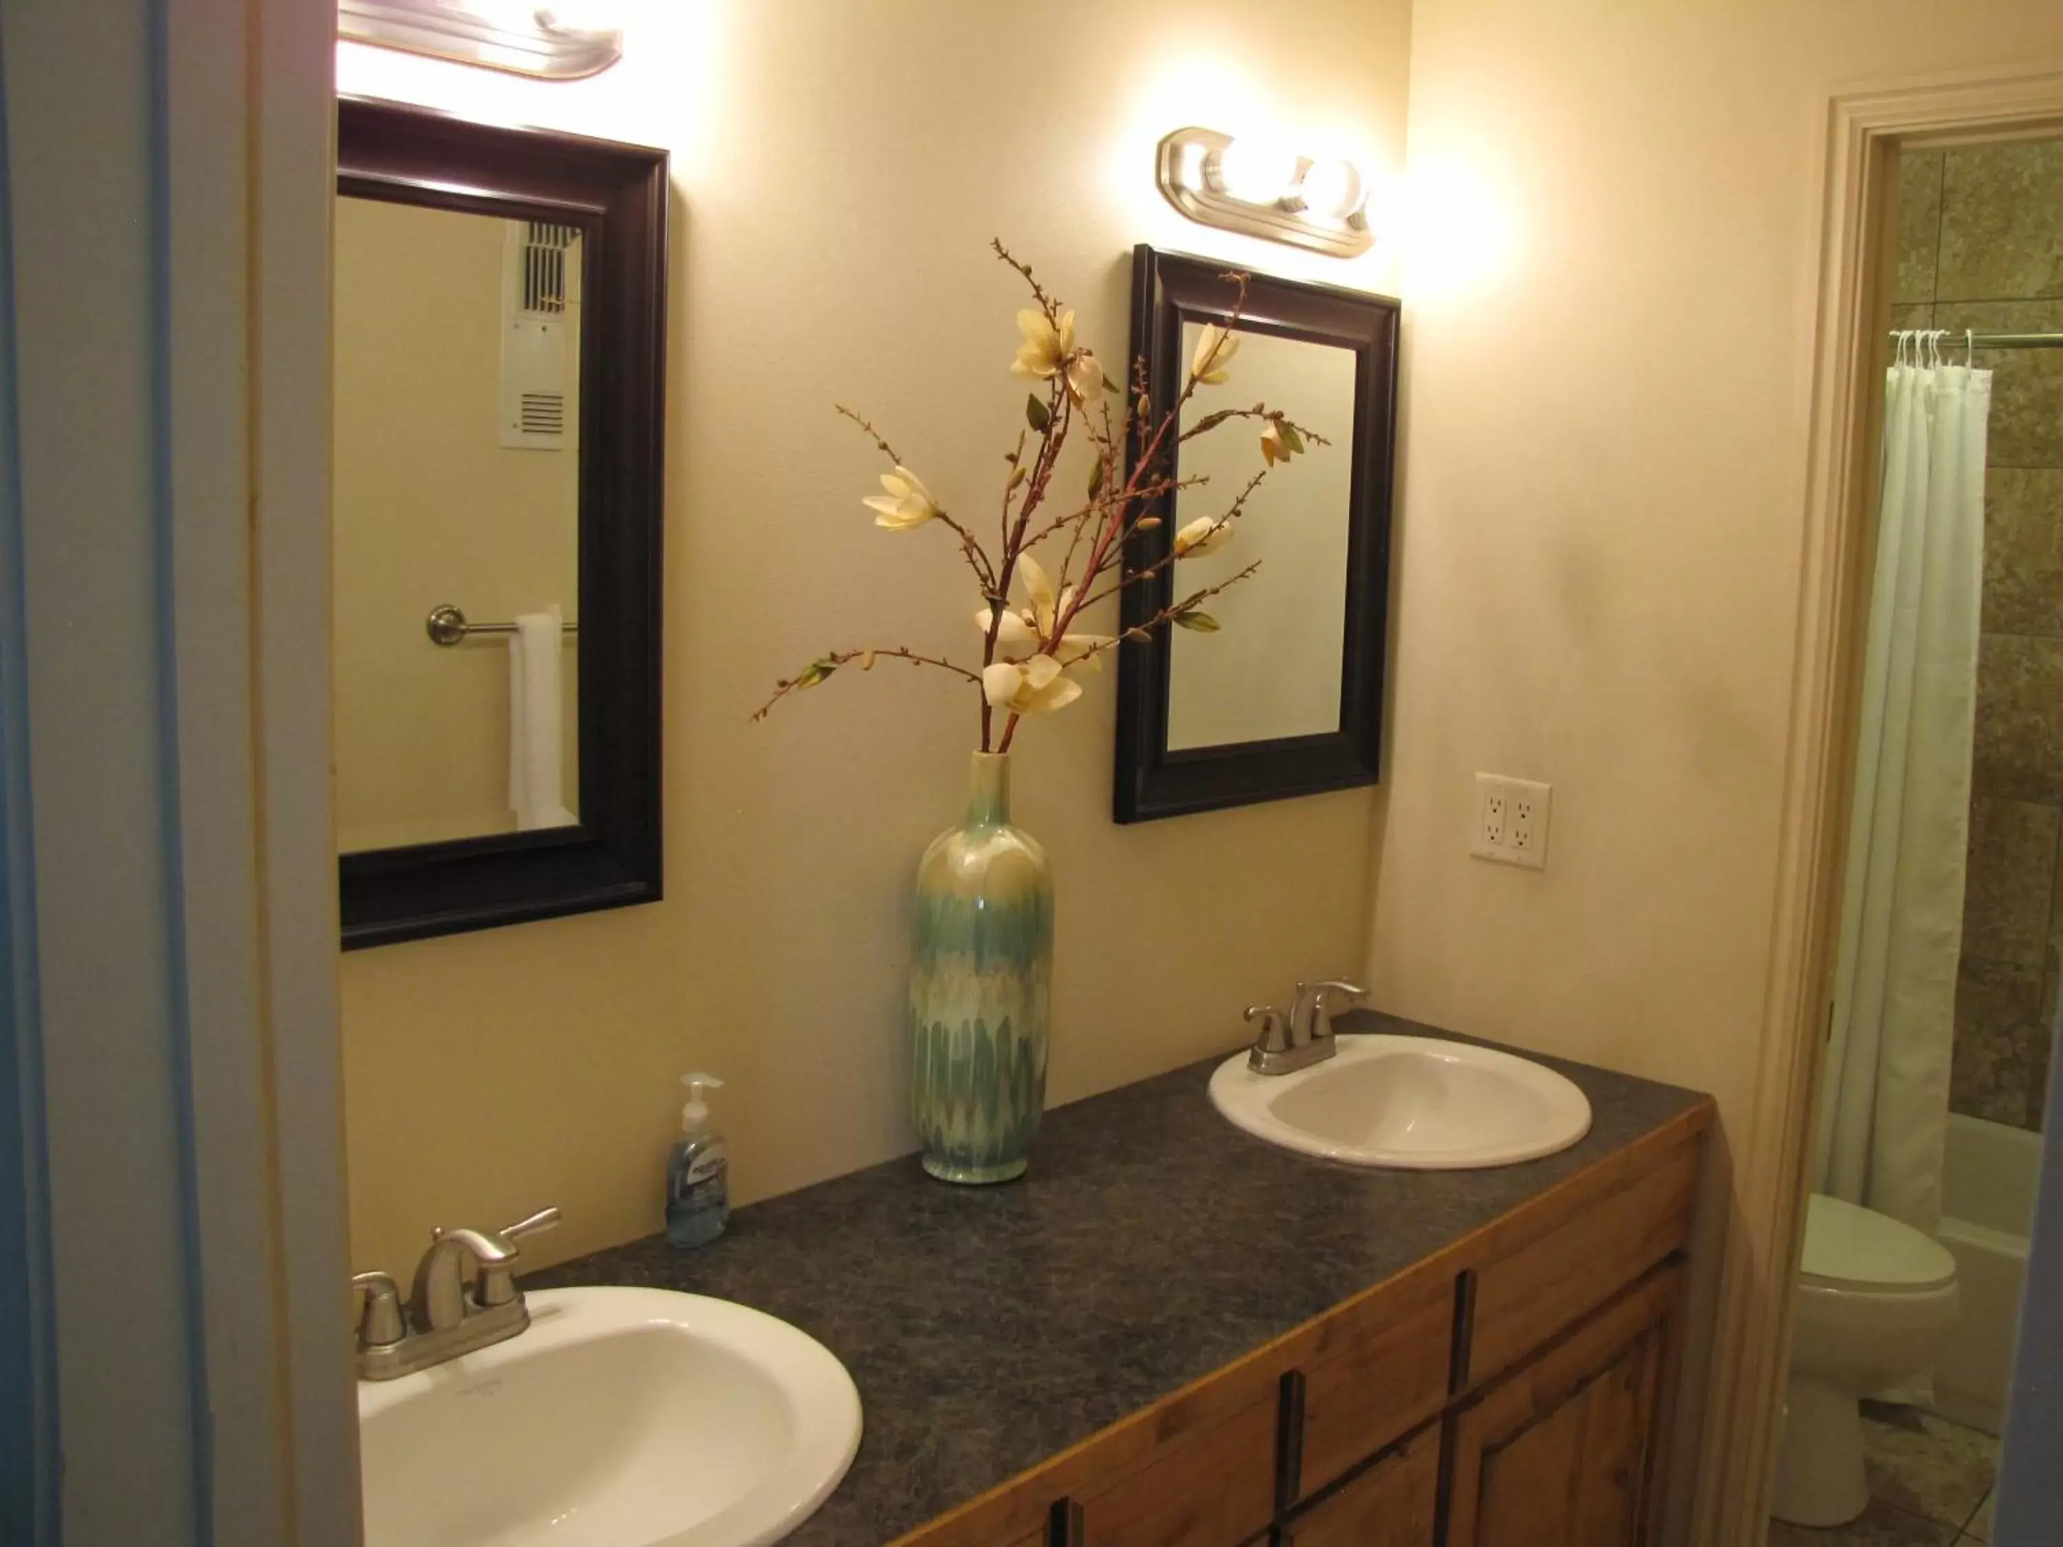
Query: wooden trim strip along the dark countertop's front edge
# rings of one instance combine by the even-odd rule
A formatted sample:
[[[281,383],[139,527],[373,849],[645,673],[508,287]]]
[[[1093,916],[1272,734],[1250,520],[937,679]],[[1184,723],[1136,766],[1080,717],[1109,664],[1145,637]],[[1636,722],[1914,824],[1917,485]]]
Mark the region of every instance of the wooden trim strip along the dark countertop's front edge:
[[[1716,1110],[1710,1095],[1700,1097],[1696,1106],[1609,1155],[1601,1155],[1580,1172],[1564,1176],[1545,1192],[1442,1246],[1432,1256],[1368,1285],[1232,1363],[1199,1376],[1116,1423],[1104,1425],[972,1500],[955,1504],[945,1514],[895,1537],[889,1547],[994,1547],[994,1543],[1015,1543],[1034,1535],[1046,1520],[1050,1500],[1073,1495],[1077,1489],[1071,1487],[1071,1481],[1089,1477],[1085,1462],[1091,1452],[1093,1477],[1102,1481],[1124,1469],[1128,1460],[1145,1462],[1157,1446],[1180,1434],[1232,1417],[1256,1401],[1273,1401],[1281,1374],[1310,1357],[1341,1320],[1355,1318],[1357,1312],[1374,1308],[1376,1302],[1388,1302],[1382,1306],[1380,1318],[1382,1324],[1388,1324],[1417,1310],[1421,1302],[1446,1299],[1454,1291],[1454,1275],[1539,1240],[1586,1205],[1648,1176],[1677,1149],[1698,1143]]]

